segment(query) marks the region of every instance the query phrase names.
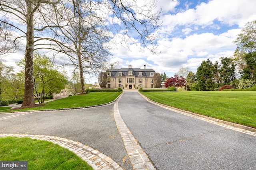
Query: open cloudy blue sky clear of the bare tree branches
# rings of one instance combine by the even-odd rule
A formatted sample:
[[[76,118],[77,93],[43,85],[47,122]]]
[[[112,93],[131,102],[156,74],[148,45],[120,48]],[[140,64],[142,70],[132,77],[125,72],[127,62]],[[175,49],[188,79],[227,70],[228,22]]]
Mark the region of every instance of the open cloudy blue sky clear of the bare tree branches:
[[[146,0],[150,1],[150,0]],[[162,9],[158,50],[152,54],[141,50],[140,44],[117,44],[111,51],[112,62],[118,68],[153,68],[174,76],[180,67],[196,72],[206,59],[213,63],[220,57],[231,57],[236,49],[233,41],[247,22],[256,20],[256,0],[158,0],[156,10]],[[115,37],[118,41],[118,37]],[[24,53],[7,57],[5,64],[15,66]],[[68,70],[68,69],[66,69]],[[72,70],[70,71],[72,72]],[[88,78],[88,76],[86,76]],[[95,78],[87,79],[93,83]]]

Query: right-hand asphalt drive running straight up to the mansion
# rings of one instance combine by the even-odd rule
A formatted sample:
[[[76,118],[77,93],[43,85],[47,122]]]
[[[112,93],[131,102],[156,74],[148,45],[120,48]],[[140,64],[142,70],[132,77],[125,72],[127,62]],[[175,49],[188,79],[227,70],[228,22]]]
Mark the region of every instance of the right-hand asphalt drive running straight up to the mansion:
[[[127,127],[159,170],[255,170],[256,137],[147,102],[138,92],[118,102]]]

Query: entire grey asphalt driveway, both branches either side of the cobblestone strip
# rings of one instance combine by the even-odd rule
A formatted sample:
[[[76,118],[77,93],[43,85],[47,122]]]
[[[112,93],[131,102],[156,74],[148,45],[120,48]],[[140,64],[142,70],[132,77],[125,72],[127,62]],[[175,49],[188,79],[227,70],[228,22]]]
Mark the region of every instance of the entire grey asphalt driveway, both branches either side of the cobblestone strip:
[[[0,133],[71,139],[132,170],[130,155],[114,119],[115,106],[130,135],[137,139],[156,169],[256,169],[255,136],[156,106],[134,91],[124,92],[115,105],[2,113]]]

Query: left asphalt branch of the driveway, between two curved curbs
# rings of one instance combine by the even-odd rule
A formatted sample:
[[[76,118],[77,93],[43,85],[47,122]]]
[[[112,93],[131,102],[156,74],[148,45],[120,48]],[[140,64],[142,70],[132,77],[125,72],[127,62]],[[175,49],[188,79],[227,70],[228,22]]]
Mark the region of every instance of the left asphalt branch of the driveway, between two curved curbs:
[[[116,128],[113,107],[111,104],[89,109],[2,113],[0,133],[50,135],[72,139],[110,156],[126,170],[132,170]]]

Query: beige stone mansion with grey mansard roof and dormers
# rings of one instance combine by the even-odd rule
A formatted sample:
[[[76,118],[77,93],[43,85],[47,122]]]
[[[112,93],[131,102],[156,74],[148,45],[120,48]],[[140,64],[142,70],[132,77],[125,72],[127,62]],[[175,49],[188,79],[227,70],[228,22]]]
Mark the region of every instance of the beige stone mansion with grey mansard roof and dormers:
[[[124,87],[126,89],[134,88],[153,88],[153,76],[156,73],[152,68],[132,68],[132,65],[128,65],[128,68],[113,68],[106,70],[108,88]]]

